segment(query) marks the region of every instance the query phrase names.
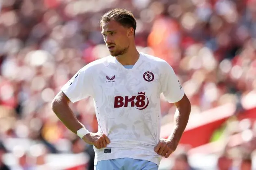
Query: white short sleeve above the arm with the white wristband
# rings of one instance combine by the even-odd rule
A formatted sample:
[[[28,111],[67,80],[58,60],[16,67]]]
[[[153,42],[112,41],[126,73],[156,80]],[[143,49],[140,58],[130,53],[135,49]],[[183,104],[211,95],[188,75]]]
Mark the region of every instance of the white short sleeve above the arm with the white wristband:
[[[89,66],[83,67],[61,88],[71,102],[92,96],[92,79],[89,70]]]

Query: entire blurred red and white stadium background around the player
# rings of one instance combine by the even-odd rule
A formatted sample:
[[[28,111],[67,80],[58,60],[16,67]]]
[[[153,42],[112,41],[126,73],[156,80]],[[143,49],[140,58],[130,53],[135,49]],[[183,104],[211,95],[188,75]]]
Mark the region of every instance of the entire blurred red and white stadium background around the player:
[[[109,55],[99,21],[112,8],[135,15],[137,48],[169,62],[191,101],[180,145],[159,169],[256,168],[256,0],[4,0],[0,167],[90,170],[91,146],[50,105],[82,66]],[[176,108],[164,97],[161,106],[166,137]],[[97,132],[91,98],[72,110]]]

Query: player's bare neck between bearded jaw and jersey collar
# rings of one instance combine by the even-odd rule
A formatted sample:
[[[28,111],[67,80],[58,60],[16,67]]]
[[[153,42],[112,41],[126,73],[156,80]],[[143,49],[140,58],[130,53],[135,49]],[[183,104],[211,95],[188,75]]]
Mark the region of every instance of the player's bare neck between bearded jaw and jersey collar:
[[[137,51],[137,49],[135,49],[131,52],[128,51],[124,55],[119,55],[115,58],[122,65],[134,65],[139,59],[139,52]]]

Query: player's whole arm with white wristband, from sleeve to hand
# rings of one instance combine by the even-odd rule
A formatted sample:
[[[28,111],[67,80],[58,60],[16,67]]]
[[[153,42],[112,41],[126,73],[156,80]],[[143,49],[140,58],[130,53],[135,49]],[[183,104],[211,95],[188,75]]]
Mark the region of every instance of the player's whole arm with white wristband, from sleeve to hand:
[[[87,64],[61,88],[61,91],[52,101],[52,110],[69,130],[88,144],[93,144],[97,149],[101,149],[110,142],[106,135],[89,133],[69,107],[70,102],[78,102],[93,96],[92,71],[90,68]]]

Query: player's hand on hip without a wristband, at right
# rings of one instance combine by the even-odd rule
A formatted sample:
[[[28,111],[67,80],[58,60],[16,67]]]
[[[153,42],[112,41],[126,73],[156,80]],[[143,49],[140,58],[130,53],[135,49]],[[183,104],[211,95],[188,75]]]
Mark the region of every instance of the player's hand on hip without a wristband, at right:
[[[154,151],[165,158],[169,157],[171,153],[173,153],[176,148],[177,144],[174,144],[175,142],[172,142],[171,140],[167,139],[160,139],[156,147],[154,148]]]

